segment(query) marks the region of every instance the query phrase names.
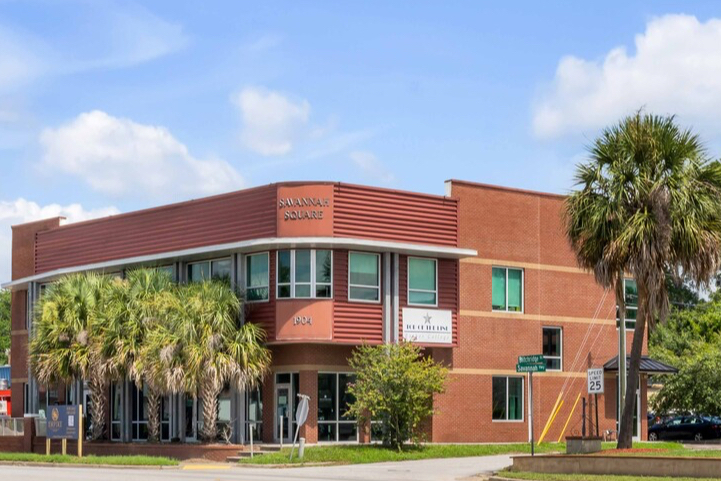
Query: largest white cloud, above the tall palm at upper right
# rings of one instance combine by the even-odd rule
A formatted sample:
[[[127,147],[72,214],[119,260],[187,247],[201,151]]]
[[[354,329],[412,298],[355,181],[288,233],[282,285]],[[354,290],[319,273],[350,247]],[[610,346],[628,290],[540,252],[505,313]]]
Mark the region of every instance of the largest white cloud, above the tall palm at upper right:
[[[635,52],[602,60],[560,60],[550,90],[533,109],[533,130],[549,138],[614,123],[634,110],[678,114],[721,132],[721,19],[665,15],[636,35]]]

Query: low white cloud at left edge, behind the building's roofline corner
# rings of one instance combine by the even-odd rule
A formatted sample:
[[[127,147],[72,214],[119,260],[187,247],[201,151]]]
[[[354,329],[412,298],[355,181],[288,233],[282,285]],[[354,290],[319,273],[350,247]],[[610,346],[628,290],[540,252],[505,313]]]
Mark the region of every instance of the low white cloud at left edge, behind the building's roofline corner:
[[[11,226],[58,216],[65,217],[65,222],[79,222],[117,214],[118,212],[118,209],[115,207],[87,210],[80,204],[69,204],[65,206],[49,204],[41,206],[23,198],[14,201],[0,201],[0,282],[10,280],[12,250]]]

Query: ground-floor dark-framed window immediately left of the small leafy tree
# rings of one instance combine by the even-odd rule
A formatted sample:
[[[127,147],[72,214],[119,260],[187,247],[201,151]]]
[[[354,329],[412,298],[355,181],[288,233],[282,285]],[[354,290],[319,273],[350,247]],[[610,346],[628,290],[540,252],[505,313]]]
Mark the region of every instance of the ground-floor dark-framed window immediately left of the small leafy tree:
[[[345,416],[355,400],[348,384],[355,375],[318,373],[318,441],[357,441],[358,424]]]

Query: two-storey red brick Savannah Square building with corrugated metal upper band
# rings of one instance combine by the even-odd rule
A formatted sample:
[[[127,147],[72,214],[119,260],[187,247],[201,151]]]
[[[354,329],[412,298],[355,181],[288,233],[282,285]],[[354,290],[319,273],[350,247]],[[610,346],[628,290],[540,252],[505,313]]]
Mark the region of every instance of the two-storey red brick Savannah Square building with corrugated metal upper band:
[[[56,218],[15,226],[7,284],[13,405],[37,413],[54,402],[87,402],[87,393],[38,386],[29,373],[29,313],[45,284],[68,272],[123,275],[156,266],[178,282],[227,279],[246,297],[245,321],[267,332],[272,374],[253,392],[221,395],[220,419],[233,425],[238,442],[247,441],[251,425],[266,442],[289,439],[286,416],[297,393],[311,398],[301,430],[308,442],[368,441],[342,416],[352,379],[347,359],[362,342],[400,339],[415,340],[450,368],[429,424],[433,441],[527,440],[527,378],[515,364],[536,353],[549,367],[534,378],[537,433],[564,392],[548,437],[555,440],[585,393],[586,369],[617,352],[613,296],[576,267],[562,197],[462,181],[446,190],[280,183],[75,224]],[[616,418],[615,373],[607,367],[602,430]],[[146,437],[143,391],[126,382],[108,396],[112,439]],[[643,382],[639,398],[644,434]],[[200,402],[163,401],[164,440],[197,439]],[[579,420],[580,407],[567,432],[580,432]]]

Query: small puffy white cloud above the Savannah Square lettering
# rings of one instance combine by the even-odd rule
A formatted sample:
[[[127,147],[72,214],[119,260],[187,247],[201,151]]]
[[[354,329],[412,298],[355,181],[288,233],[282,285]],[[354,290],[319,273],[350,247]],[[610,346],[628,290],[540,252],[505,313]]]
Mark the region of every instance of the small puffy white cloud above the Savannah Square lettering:
[[[306,100],[259,87],[246,87],[232,96],[243,120],[241,141],[264,156],[285,155],[304,136],[310,117]]]

